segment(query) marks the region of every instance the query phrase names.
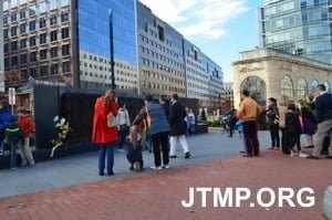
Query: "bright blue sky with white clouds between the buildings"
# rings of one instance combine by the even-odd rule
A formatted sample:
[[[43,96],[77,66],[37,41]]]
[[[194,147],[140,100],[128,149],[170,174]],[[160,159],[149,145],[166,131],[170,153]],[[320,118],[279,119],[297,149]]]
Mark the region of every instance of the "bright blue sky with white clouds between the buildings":
[[[141,0],[216,61],[232,81],[238,52],[259,44],[257,8],[261,0]]]

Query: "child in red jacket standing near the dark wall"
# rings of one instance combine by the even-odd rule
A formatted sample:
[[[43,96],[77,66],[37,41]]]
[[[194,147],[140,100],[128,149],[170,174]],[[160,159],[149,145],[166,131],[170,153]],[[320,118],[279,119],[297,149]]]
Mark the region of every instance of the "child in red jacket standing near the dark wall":
[[[24,107],[18,108],[18,116],[19,116],[19,124],[20,127],[23,130],[24,139],[19,144],[19,154],[21,156],[22,163],[21,167],[24,167],[28,165],[34,166],[34,159],[31,153],[30,148],[30,137],[31,133],[34,129],[34,122],[31,118],[31,116],[27,113],[27,109]]]

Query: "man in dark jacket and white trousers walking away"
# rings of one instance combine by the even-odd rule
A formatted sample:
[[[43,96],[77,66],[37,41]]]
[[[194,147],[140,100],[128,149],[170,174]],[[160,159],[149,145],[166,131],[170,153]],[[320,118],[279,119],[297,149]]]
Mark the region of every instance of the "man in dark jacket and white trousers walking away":
[[[172,105],[169,112],[169,126],[170,126],[170,158],[176,158],[176,143],[179,140],[184,153],[185,158],[190,158],[190,153],[188,148],[188,144],[186,140],[187,134],[187,123],[185,122],[186,117],[185,106],[178,102],[178,95],[174,94],[172,96]]]

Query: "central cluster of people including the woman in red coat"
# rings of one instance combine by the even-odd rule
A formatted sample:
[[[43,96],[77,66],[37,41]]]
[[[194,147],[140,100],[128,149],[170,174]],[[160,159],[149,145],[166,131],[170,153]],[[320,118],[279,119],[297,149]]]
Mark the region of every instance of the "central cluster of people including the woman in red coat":
[[[177,157],[177,143],[183,147],[184,157],[189,159],[186,135],[195,130],[193,115],[177,94],[172,95],[170,103],[166,96],[155,101],[152,95],[146,95],[144,106],[131,123],[125,104],[118,104],[114,91],[107,91],[94,106],[92,142],[100,146],[98,175],[105,175],[105,167],[106,175],[114,175],[114,148],[117,146],[123,151],[126,137],[129,142],[125,151],[131,170],[143,169],[145,147],[154,154],[153,170],[169,168],[169,158]]]

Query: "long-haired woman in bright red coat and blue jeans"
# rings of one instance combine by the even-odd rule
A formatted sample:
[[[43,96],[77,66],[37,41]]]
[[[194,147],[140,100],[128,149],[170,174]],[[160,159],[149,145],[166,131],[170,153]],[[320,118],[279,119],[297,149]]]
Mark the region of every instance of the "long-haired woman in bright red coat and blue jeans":
[[[96,99],[94,105],[92,143],[100,145],[98,169],[100,176],[104,176],[105,157],[107,155],[107,175],[114,175],[114,149],[117,140],[117,127],[107,126],[110,114],[117,115],[117,103],[114,91],[107,91],[104,96]]]

